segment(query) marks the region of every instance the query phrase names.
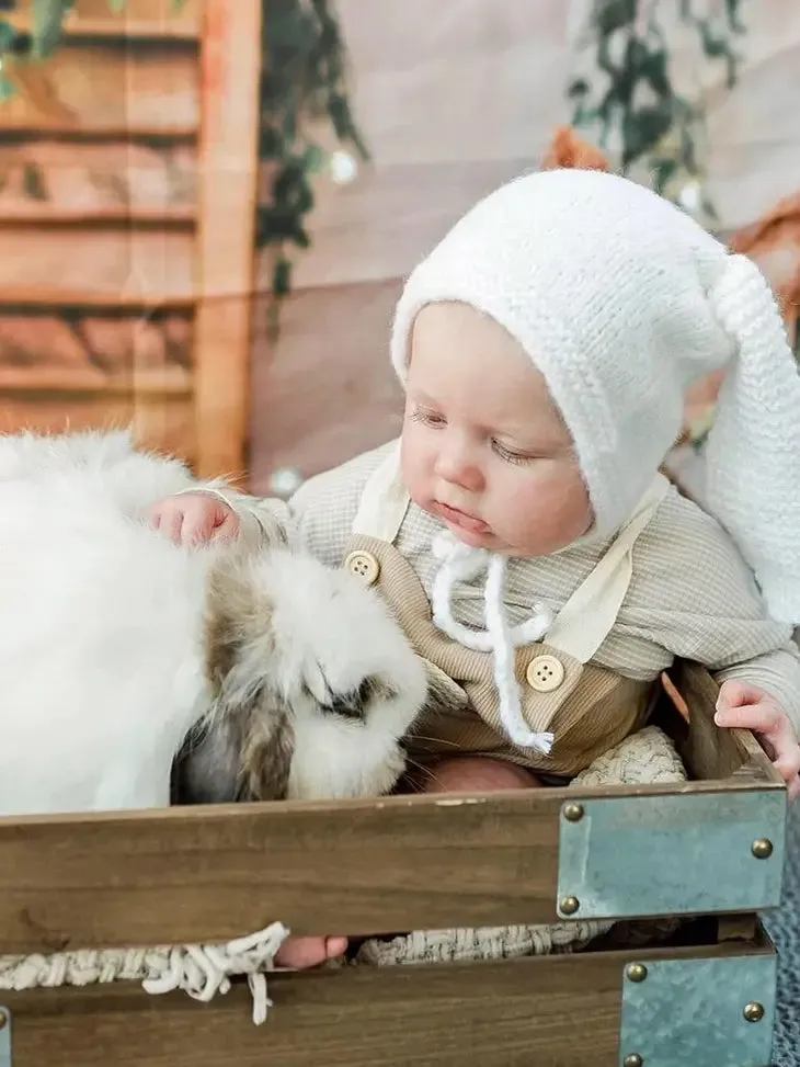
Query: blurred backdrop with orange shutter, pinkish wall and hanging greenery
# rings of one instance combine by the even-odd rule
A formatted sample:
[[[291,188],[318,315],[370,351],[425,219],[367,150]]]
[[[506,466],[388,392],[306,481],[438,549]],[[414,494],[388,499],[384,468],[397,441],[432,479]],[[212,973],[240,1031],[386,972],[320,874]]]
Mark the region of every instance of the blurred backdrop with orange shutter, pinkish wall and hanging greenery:
[[[115,7],[0,12],[1,429],[130,421],[289,491],[397,432],[403,275],[576,145],[757,256],[793,320],[796,0]]]

